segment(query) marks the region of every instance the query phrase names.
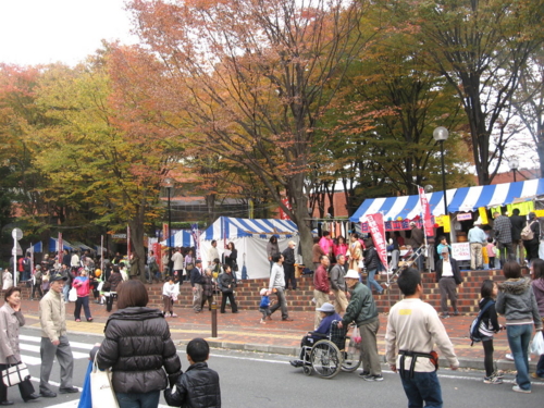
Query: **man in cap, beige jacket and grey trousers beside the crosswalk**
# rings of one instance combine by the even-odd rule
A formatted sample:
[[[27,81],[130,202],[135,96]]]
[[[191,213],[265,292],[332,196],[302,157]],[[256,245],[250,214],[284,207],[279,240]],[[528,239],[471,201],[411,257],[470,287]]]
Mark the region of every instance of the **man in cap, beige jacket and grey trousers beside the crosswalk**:
[[[57,396],[49,387],[49,376],[55,357],[61,366],[59,393],[71,394],[78,392],[72,385],[74,357],[66,337],[66,310],[62,298],[62,287],[66,281],[66,276],[59,273],[52,274],[49,277],[49,292],[39,302],[39,322],[41,325],[39,392],[46,398]]]

